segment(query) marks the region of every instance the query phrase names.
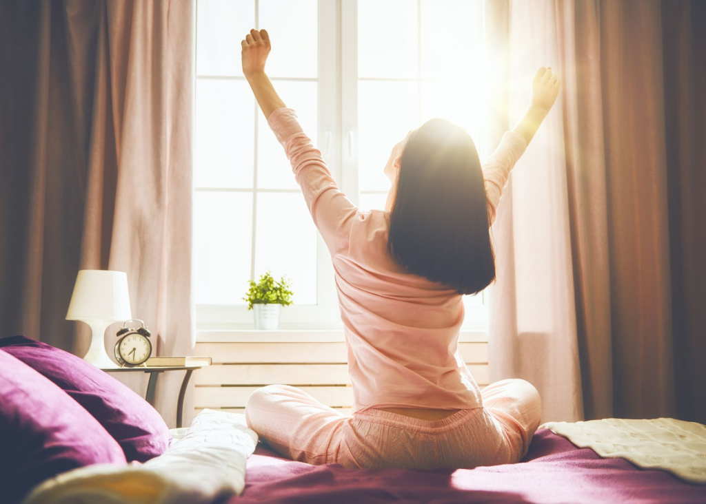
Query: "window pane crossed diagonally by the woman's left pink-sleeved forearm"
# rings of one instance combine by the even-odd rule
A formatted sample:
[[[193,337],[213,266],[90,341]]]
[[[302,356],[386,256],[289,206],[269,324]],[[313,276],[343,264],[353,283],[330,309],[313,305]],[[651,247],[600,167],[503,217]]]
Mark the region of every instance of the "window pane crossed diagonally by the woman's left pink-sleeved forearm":
[[[297,111],[304,133],[314,145],[318,136],[317,82],[277,81],[277,93],[287,106]],[[285,149],[277,142],[265,117],[258,116],[258,188],[298,189]]]

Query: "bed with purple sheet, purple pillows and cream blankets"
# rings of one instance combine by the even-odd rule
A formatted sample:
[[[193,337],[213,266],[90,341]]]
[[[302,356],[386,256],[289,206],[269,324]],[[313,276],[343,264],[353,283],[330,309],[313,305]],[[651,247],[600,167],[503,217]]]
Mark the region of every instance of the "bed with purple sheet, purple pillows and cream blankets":
[[[513,465],[311,466],[258,443],[244,414],[207,409],[169,431],[83,359],[21,336],[0,347],[2,503],[706,503],[706,426],[695,422],[549,422]]]

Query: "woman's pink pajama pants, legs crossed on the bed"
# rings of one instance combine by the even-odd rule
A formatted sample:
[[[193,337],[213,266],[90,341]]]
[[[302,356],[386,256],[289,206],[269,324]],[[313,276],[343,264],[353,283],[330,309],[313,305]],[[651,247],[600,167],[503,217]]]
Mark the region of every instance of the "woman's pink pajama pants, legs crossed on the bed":
[[[283,457],[345,467],[472,468],[519,462],[539,426],[541,402],[530,383],[493,383],[483,407],[441,420],[369,409],[347,416],[287,385],[259,388],[246,406],[248,425]]]

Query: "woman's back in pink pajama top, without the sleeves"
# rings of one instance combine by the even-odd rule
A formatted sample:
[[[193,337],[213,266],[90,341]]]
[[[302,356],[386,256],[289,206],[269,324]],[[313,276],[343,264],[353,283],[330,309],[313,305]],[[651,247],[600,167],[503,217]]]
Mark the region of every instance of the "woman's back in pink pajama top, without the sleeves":
[[[386,211],[357,212],[348,250],[333,256],[353,411],[478,407],[477,383],[457,352],[462,297],[393,261],[389,220]]]

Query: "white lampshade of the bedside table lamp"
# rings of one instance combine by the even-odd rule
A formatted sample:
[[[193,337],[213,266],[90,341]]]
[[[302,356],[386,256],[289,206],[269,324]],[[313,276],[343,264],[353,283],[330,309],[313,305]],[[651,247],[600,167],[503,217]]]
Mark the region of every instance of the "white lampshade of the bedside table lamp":
[[[131,318],[128,276],[123,271],[78,272],[66,320],[117,322]]]

